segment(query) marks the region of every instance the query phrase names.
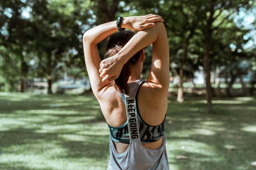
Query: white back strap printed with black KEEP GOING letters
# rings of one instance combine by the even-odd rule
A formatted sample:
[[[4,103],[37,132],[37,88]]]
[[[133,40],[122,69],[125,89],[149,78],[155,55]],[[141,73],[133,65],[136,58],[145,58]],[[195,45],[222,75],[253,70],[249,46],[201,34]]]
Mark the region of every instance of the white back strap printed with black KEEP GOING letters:
[[[126,115],[129,129],[130,141],[140,140],[140,132],[136,111],[136,100],[134,97],[124,95],[126,105]]]

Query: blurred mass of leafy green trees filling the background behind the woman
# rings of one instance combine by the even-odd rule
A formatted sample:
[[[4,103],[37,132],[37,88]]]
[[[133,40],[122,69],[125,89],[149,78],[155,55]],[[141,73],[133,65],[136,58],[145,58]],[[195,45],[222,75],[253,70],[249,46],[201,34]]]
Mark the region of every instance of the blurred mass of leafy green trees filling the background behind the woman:
[[[45,78],[47,93],[52,93],[52,84],[67,70],[74,79],[86,77],[83,33],[119,15],[149,13],[165,20],[179,102],[184,101],[184,82],[192,79],[194,84],[201,68],[208,112],[212,95],[223,95],[221,77],[227,95],[232,95],[237,78],[244,93],[254,94],[256,5],[252,0],[0,0],[0,90],[23,92],[28,79]],[[246,21],[248,15],[254,20]],[[105,43],[98,44],[102,59]],[[151,50],[146,48],[143,78],[151,68]],[[248,72],[250,88],[242,78]]]

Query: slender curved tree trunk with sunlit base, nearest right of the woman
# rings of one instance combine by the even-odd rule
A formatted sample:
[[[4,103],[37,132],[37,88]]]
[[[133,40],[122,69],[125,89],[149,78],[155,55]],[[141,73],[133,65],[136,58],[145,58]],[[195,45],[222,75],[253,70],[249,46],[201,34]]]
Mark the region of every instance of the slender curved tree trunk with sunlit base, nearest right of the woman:
[[[178,102],[183,102],[184,101],[184,91],[183,91],[184,72],[183,72],[183,66],[184,66],[185,60],[187,58],[187,49],[188,49],[188,38],[185,38],[185,40],[184,40],[184,54],[181,58],[180,69],[179,69],[180,81],[179,81],[178,97],[177,97]]]

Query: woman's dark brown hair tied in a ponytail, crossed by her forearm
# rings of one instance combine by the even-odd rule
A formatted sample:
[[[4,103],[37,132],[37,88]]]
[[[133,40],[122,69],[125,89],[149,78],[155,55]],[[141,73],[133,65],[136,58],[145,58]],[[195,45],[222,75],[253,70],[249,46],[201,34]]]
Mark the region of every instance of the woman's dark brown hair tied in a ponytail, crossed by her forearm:
[[[111,34],[108,37],[107,48],[105,51],[104,58],[114,56],[119,52],[124,45],[135,35],[133,31],[118,31],[117,33]],[[116,88],[117,91],[123,94],[129,93],[128,79],[131,74],[129,65],[134,65],[140,58],[143,49],[138,51],[134,56],[132,56],[124,65],[121,73],[117,79],[111,81],[112,86]]]

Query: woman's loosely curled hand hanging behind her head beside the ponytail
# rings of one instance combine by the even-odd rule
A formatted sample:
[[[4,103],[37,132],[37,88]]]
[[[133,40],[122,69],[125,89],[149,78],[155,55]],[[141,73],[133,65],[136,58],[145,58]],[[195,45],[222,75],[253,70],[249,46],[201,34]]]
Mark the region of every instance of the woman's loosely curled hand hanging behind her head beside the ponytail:
[[[117,79],[121,73],[124,63],[116,55],[103,59],[100,64],[100,77],[102,82],[109,82]]]

